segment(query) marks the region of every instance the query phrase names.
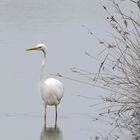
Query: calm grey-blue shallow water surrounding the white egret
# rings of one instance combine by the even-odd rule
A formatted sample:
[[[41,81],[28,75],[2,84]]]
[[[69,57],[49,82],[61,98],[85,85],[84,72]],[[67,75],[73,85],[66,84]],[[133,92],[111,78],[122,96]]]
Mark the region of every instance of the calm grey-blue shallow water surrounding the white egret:
[[[90,107],[104,91],[66,79],[60,79],[65,95],[58,108],[58,128],[54,129],[54,108],[49,107],[44,129],[37,84],[41,54],[25,52],[36,43],[47,45],[47,77],[60,72],[81,78],[69,71],[73,66],[96,70],[98,64],[84,52],[97,54],[98,45],[83,25],[100,34],[101,11],[98,1],[0,1],[0,139],[90,140],[109,134],[106,122],[94,121],[103,106]]]

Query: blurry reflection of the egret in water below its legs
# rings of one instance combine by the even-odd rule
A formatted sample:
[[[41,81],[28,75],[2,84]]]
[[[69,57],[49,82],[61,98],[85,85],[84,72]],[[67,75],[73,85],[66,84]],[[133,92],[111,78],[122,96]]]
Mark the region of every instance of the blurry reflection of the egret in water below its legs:
[[[62,131],[57,127],[43,127],[40,140],[63,140]]]

